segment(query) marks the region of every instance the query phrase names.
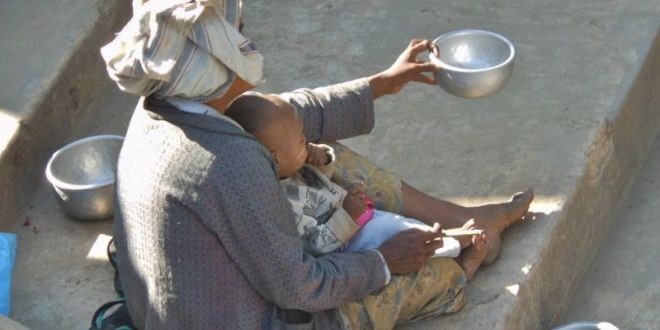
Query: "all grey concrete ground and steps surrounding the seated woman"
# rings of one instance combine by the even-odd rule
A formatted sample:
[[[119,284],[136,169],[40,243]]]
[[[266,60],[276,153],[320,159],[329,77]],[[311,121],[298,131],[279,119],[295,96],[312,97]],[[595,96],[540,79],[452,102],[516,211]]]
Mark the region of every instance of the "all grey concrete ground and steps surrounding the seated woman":
[[[84,329],[96,306],[114,297],[108,265],[87,257],[99,235],[110,234],[111,222],[64,217],[42,173],[47,157],[65,142],[125,129],[134,98],[105,78],[94,46],[115,31],[98,27],[115,3],[69,0],[76,10],[58,7],[42,22],[54,28],[21,30],[47,43],[30,43],[16,27],[48,4],[0,4],[0,18],[7,18],[0,19],[0,30],[13,36],[1,37],[0,56],[24,68],[0,70],[0,112],[29,137],[0,140],[0,196],[9,196],[0,201],[13,198],[12,205],[22,206],[0,203],[0,225],[19,235],[11,316],[34,329]],[[589,316],[569,313],[573,307],[566,302],[583,292],[579,280],[660,127],[657,1],[340,0],[303,6],[255,0],[244,3],[244,14],[244,32],[266,58],[267,82],[258,89],[271,92],[376,73],[413,37],[458,28],[509,37],[517,47],[515,69],[499,94],[465,100],[411,85],[377,102],[372,134],[346,143],[418,189],[465,205],[502,201],[528,186],[536,190],[536,216],[505,235],[501,258],[470,284],[464,310],[418,328],[547,329],[563,314],[575,316],[571,320]],[[90,26],[98,31],[90,34]],[[71,42],[86,34],[83,46]],[[34,51],[44,45],[84,61],[44,67],[43,55],[35,54],[45,50]],[[78,79],[81,71],[84,79]],[[75,88],[57,92],[71,81],[78,82]],[[35,84],[41,85],[28,88]],[[46,94],[57,96],[48,99],[53,106],[25,101]],[[47,129],[17,125],[13,119],[23,114]],[[26,217],[31,226],[22,225]]]

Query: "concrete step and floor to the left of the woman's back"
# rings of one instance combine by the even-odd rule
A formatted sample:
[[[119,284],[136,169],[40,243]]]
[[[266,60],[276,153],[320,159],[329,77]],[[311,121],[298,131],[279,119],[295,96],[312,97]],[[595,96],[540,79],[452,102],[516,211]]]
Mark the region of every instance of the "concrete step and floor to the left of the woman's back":
[[[32,329],[87,329],[115,298],[107,261],[87,258],[111,222],[65,217],[43,171],[70,141],[124,134],[135,98],[109,81],[99,47],[130,12],[119,0],[0,3],[0,230],[18,236],[11,316]]]

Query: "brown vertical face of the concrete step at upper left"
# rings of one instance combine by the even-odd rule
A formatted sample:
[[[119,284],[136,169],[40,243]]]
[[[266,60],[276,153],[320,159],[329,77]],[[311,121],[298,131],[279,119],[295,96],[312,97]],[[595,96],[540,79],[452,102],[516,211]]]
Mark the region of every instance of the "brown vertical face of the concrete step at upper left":
[[[21,92],[32,94],[23,96],[24,103],[15,102],[18,108],[13,109],[13,114],[3,115],[7,124],[3,122],[3,130],[11,129],[0,136],[0,230],[10,228],[20,210],[27,206],[49,155],[79,128],[90,100],[98,92],[97,86],[102,79],[107,80],[99,48],[130,13],[130,2],[120,0],[96,1],[89,11],[79,13],[95,15],[92,24],[79,26],[81,30],[72,33],[75,39],[72,46],[64,50],[64,59],[58,62],[61,64],[54,72],[35,75],[37,80],[44,80],[26,83],[36,86]],[[78,18],[65,16],[60,24],[69,24],[74,19]],[[30,32],[43,33],[42,30]],[[69,40],[62,40],[61,45],[66,47],[69,43]],[[44,51],[38,46],[35,45],[38,51]],[[32,58],[27,53],[16,56]],[[35,61],[41,59],[34,58]]]

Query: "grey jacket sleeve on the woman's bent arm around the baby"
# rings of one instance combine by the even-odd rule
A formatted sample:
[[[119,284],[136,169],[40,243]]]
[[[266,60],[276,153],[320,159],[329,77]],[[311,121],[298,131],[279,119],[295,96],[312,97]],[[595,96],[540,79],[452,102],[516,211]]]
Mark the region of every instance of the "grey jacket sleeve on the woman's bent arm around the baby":
[[[280,308],[314,312],[385,285],[385,265],[376,251],[306,253],[267,153],[256,143],[223,148],[240,161],[212,164],[206,202],[196,211],[260,295]]]

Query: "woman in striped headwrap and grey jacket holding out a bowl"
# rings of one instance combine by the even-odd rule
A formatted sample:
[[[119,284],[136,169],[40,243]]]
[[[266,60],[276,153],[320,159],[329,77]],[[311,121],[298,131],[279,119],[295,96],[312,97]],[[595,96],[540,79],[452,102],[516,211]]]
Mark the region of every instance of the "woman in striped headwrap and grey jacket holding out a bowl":
[[[439,232],[406,231],[378,250],[304,252],[272,156],[224,116],[262,78],[261,56],[237,29],[238,1],[135,4],[102,55],[119,87],[142,96],[119,156],[114,222],[119,276],[138,328],[380,327],[462,306],[461,268],[429,260]],[[416,60],[429,46],[413,40],[381,73],[282,97],[302,116],[308,141],[368,133],[376,98],[413,80],[433,83],[423,73],[436,69]],[[465,208],[418,192],[346,148],[336,151],[333,181],[364,179],[377,208],[443,227],[474,218],[493,247],[533,198],[527,192]],[[379,290],[398,297],[400,313],[363,312],[356,301]],[[427,308],[432,300],[438,304],[428,306],[448,303]]]

